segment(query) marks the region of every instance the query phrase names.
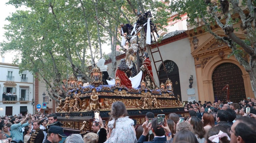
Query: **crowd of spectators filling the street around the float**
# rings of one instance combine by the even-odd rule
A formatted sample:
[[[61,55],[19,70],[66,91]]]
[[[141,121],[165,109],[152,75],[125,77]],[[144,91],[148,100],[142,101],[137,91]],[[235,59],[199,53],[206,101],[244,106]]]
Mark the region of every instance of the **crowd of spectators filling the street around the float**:
[[[99,117],[99,122],[92,124],[92,132],[84,137],[81,134],[67,137],[62,127],[54,125],[46,132],[47,123],[57,121],[56,114],[19,114],[2,116],[0,139],[17,143],[252,143],[256,140],[254,108],[254,98],[240,103],[188,102],[184,104],[189,112],[186,120],[170,113],[158,127],[159,121],[151,112],[146,114],[142,125],[136,125],[137,121],[129,118],[124,103],[116,101],[111,106],[108,124]]]

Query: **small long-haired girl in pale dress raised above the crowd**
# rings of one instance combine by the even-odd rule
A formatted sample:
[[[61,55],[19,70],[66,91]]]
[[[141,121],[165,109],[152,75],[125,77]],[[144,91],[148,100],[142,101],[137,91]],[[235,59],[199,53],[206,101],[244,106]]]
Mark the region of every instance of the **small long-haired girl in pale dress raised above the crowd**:
[[[105,143],[137,143],[134,121],[128,118],[128,112],[121,101],[112,104],[108,122],[108,136]]]

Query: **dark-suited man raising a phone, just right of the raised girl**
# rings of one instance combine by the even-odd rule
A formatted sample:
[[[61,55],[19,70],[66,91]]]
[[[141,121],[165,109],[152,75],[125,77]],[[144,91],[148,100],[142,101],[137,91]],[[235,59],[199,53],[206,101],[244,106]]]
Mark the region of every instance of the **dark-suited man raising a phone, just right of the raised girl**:
[[[156,123],[157,123],[157,119],[154,118],[151,122],[151,126],[152,126],[152,132],[154,134],[154,139],[152,141],[146,142],[146,136],[149,132],[149,125],[147,126],[147,124],[143,123],[142,127],[143,127],[143,133],[142,135],[139,137],[138,142],[137,143],[164,143],[166,141],[166,136],[165,136],[165,131],[163,128],[157,128],[156,127]],[[171,133],[168,133],[168,136],[170,136]]]

